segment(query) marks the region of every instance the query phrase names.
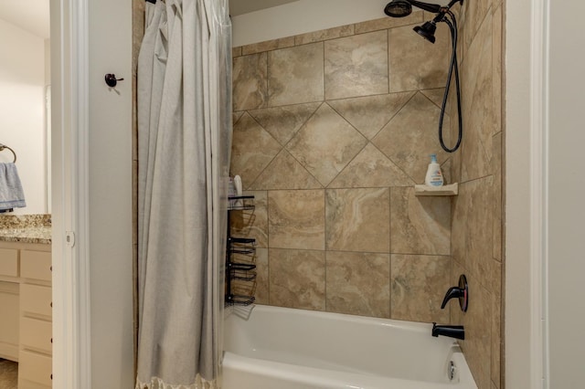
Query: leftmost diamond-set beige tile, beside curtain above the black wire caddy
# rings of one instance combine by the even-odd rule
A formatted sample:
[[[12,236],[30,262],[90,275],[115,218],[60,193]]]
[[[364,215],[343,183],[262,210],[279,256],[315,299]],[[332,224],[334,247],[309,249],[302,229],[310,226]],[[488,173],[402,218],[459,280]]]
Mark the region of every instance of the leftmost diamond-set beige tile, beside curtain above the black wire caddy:
[[[230,172],[239,174],[247,189],[281,149],[279,142],[245,113],[234,126]]]

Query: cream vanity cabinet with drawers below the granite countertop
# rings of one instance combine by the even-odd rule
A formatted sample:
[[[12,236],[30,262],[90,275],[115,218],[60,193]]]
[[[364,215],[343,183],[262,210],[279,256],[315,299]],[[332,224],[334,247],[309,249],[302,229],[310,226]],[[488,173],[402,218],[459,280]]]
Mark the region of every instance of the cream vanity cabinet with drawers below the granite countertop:
[[[0,242],[0,357],[18,362],[18,389],[52,387],[50,249]]]

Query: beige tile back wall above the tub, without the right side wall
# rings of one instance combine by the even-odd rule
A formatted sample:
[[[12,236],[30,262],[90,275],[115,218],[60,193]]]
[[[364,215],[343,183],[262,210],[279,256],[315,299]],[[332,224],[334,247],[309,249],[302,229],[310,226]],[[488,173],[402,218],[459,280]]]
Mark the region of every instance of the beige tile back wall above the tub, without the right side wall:
[[[450,320],[449,197],[417,197],[437,127],[449,35],[384,18],[234,48],[231,173],[256,196],[235,236],[258,240],[257,302]],[[449,120],[448,120],[449,122]],[[447,131],[449,132],[449,131]]]

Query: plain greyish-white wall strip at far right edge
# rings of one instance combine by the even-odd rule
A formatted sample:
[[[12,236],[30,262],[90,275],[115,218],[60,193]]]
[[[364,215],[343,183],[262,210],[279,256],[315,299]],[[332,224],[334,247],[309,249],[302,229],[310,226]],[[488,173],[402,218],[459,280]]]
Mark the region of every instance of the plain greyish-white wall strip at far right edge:
[[[550,1],[550,3],[552,3]],[[559,4],[560,5],[560,4]],[[549,13],[548,322],[550,388],[585,386],[585,3]]]

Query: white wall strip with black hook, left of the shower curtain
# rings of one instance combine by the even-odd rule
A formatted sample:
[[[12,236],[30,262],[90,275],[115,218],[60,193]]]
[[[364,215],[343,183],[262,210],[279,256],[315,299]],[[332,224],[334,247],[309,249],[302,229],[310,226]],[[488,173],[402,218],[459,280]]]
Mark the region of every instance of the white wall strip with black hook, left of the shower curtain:
[[[91,388],[128,389],[134,384],[132,1],[88,5]],[[106,73],[124,80],[108,88]]]

